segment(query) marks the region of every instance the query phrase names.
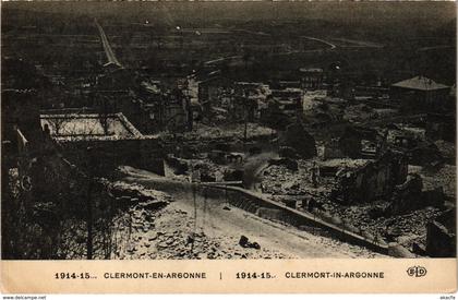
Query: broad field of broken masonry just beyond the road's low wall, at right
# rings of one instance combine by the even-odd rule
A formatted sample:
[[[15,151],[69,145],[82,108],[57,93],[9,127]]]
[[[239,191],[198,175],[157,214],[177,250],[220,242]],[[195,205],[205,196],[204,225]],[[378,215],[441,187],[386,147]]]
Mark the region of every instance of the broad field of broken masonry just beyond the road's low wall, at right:
[[[340,160],[343,161],[343,159]],[[375,242],[377,240],[397,242],[408,249],[412,249],[413,243],[424,244],[426,224],[441,214],[442,207],[431,206],[432,202],[430,203],[429,200],[422,202],[425,204],[423,206],[419,203],[418,206],[412,206],[411,209],[403,209],[403,212],[397,214],[390,213],[391,200],[341,205],[329,196],[329,191],[336,185],[334,172],[326,175],[325,169],[322,168],[323,166],[328,166],[330,164],[328,161],[332,160],[321,163],[313,159],[299,159],[298,161],[298,171],[292,171],[281,165],[273,165],[266,168],[263,172],[262,191],[269,194],[270,199],[284,202],[287,205],[289,204],[288,201],[294,201],[297,203],[296,205],[290,205],[291,207],[313,213],[325,221],[338,225],[346,230],[361,235]],[[358,166],[363,165],[364,159],[355,159],[354,164]],[[320,170],[322,173],[316,179],[318,182],[314,187],[311,173],[315,165],[321,166]],[[346,165],[337,164],[336,166],[339,169]],[[412,168],[410,167],[409,170],[412,171]],[[438,183],[444,182],[444,176],[441,176],[442,180],[435,180],[434,182],[432,182],[433,178],[431,175],[430,178],[424,180],[424,172],[422,173],[423,185],[418,176],[411,176],[411,178],[418,179],[412,182],[417,183],[414,187],[418,190],[417,194],[422,196],[429,195],[435,191],[433,189],[437,188]],[[449,173],[449,188],[445,189],[449,193],[449,190],[454,187],[451,179],[455,175],[455,167],[450,170],[446,167],[442,172]],[[419,180],[420,183],[418,182]],[[419,199],[417,200],[420,201]]]

